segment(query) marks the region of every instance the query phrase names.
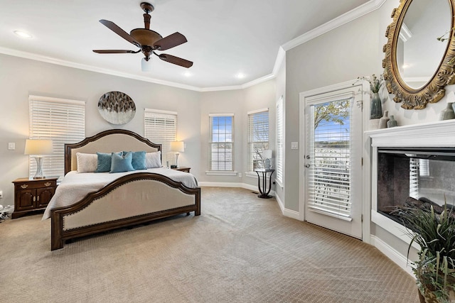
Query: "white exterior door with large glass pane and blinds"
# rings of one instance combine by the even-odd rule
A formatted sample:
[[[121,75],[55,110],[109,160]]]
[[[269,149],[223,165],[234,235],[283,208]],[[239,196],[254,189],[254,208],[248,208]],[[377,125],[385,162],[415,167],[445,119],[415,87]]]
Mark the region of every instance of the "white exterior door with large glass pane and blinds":
[[[355,87],[304,97],[305,220],[362,238],[362,96]]]

